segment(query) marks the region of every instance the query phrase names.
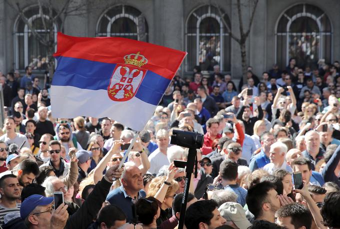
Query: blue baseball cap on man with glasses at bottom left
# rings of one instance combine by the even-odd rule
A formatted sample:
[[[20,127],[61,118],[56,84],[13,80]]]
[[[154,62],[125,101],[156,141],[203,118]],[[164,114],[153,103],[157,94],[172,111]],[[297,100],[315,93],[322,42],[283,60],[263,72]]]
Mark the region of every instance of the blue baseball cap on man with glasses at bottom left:
[[[36,206],[44,206],[53,202],[53,196],[45,197],[38,194],[33,194],[25,198],[20,206],[20,217],[25,219]]]

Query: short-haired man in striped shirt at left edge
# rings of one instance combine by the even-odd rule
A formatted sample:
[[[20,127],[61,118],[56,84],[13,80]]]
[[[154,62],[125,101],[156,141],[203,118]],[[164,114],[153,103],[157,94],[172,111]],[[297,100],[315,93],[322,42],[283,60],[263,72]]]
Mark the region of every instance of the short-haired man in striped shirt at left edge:
[[[14,174],[7,174],[0,178],[0,224],[3,224],[3,218],[8,213],[19,213],[20,203],[16,201],[20,198],[19,181]]]

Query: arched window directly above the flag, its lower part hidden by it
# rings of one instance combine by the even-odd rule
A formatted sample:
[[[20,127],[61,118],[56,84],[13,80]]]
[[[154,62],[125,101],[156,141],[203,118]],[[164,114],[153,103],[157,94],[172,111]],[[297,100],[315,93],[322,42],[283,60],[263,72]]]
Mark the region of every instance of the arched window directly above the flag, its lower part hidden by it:
[[[116,5],[99,17],[96,36],[120,36],[147,41],[148,27],[138,9],[128,5]]]

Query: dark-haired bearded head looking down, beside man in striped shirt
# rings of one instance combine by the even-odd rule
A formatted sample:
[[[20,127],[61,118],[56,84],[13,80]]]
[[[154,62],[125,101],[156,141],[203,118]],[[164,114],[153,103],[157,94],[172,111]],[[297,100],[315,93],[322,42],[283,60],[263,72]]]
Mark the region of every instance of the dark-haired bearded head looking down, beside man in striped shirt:
[[[24,187],[39,174],[39,167],[34,160],[24,159],[18,164],[16,173],[19,184]]]

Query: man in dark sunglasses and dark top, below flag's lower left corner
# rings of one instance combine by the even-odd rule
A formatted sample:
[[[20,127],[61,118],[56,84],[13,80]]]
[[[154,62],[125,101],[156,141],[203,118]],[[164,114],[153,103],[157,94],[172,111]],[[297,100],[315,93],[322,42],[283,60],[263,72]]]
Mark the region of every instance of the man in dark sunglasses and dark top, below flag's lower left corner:
[[[40,168],[43,166],[52,166],[55,176],[59,179],[64,178],[69,171],[69,163],[66,163],[60,157],[61,145],[57,140],[51,140],[48,143],[48,150],[50,158],[46,163],[40,165]],[[66,150],[68,151],[68,150]]]

